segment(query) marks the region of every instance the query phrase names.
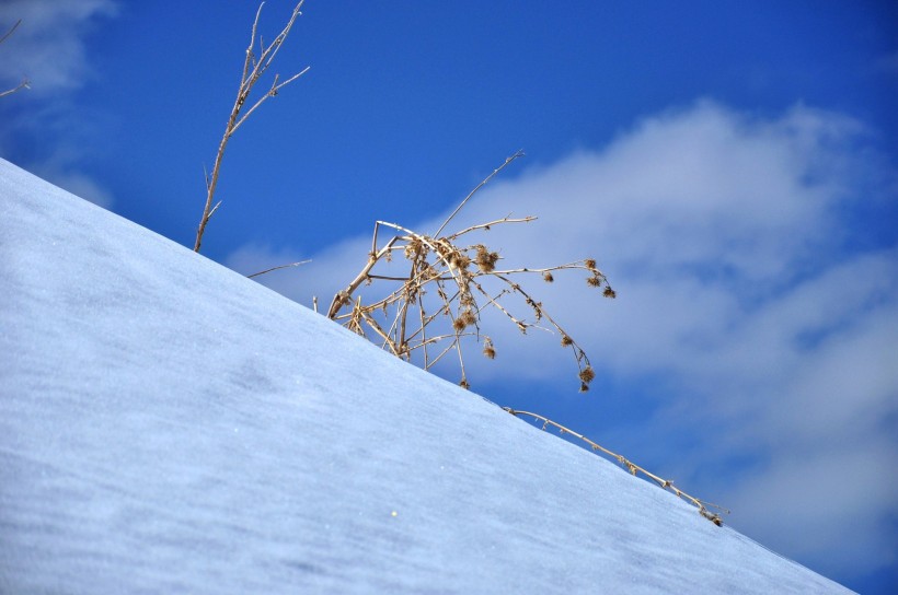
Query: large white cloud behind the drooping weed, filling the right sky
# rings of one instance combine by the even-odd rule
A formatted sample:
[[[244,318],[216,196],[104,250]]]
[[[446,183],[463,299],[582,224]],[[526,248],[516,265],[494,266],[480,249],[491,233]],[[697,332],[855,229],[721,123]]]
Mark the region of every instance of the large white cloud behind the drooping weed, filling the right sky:
[[[701,455],[671,457],[680,483],[719,494],[734,524],[825,572],[893,562],[898,542],[898,252],[845,249],[856,230],[843,214],[875,199],[863,144],[863,128],[837,114],[761,118],[702,102],[496,183],[458,222],[539,215],[484,237],[508,265],[596,257],[618,300],[561,275],[540,298],[602,373],[665,382],[634,440],[689,435]],[[262,280],[309,304],[368,249],[361,235]],[[250,272],[309,256],[268,252],[231,264]],[[490,334],[499,357],[479,372],[571,372],[514,328]]]

